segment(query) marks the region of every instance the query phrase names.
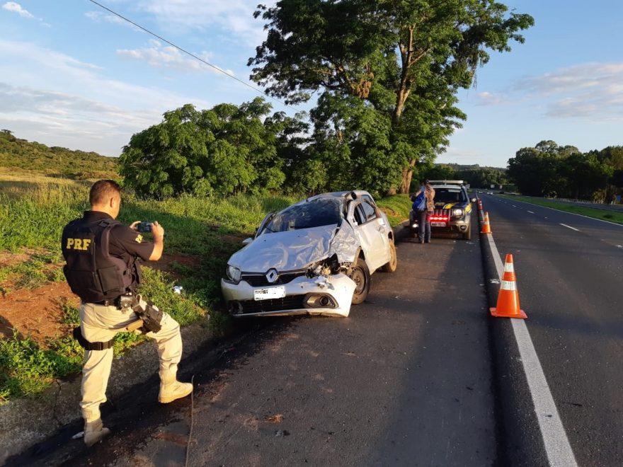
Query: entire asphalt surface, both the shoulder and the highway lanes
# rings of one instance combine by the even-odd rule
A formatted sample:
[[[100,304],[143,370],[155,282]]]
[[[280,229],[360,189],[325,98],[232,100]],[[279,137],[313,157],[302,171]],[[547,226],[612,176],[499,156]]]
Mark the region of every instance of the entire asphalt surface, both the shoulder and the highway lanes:
[[[623,465],[623,226],[483,203],[572,458]],[[105,442],[68,441],[72,425],[8,465],[566,465],[543,454],[535,415],[550,415],[535,414],[510,321],[489,316],[473,224],[474,241],[398,243],[398,270],[375,273],[349,318],[240,321],[183,361],[193,398],[156,403],[154,376],[105,404]]]

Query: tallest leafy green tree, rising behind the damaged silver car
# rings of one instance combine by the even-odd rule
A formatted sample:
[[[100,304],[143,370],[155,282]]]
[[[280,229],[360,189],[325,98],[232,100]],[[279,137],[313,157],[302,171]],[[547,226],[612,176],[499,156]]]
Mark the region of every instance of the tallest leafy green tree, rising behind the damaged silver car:
[[[523,42],[518,31],[533,24],[491,0],[280,0],[259,6],[256,16],[267,22],[268,36],[249,59],[251,78],[288,103],[327,96],[336,108],[312,115],[342,146],[358,135],[344,134],[357,130],[343,119],[339,99],[353,108],[360,107],[353,99],[361,100],[378,113],[372,120],[389,125],[381,138],[387,142],[377,139],[372,149],[380,144],[380,153],[367,157],[372,166],[379,156],[389,162],[384,185],[400,192],[408,191],[418,160],[442,151],[464,118],[457,89],[471,86],[488,50],[510,50],[511,40]]]

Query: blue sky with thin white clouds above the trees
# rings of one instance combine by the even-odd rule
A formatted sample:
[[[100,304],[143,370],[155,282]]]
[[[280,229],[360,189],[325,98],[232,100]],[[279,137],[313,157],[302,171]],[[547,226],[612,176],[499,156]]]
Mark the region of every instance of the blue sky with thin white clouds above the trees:
[[[99,3],[249,83],[265,34],[258,0]],[[581,151],[623,144],[623,1],[502,3],[536,24],[459,93],[468,120],[438,162],[504,167],[542,139]],[[0,0],[0,129],[17,137],[118,156],[167,110],[256,96],[91,1]]]

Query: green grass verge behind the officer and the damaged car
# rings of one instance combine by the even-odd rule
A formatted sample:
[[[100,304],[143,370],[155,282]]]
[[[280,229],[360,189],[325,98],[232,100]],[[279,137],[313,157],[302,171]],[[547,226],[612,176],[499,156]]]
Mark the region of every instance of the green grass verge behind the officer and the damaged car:
[[[64,225],[88,209],[91,183],[0,172],[0,254],[28,253],[28,259],[0,267],[0,284],[5,284],[2,294],[64,281],[59,238]],[[141,292],[181,325],[209,313],[207,325],[215,333],[223,332],[229,317],[219,313],[217,305],[227,259],[241,248],[241,240],[253,234],[267,212],[294,201],[292,197],[248,195],[224,200],[182,196],[146,201],[123,195],[120,221],[159,221],[166,232],[165,253],[194,258],[196,264],[171,264],[177,273],[175,280],[143,267]],[[398,195],[379,200],[379,207],[396,225],[408,218],[411,201],[407,195]],[[184,293],[174,294],[173,284],[183,286]],[[70,304],[59,306],[64,323],[77,325],[77,309]],[[115,338],[115,352],[122,353],[140,340],[141,336],[122,333]],[[0,338],[0,403],[40,393],[54,379],[79,371],[81,358],[81,348],[69,335],[50,338],[45,348],[17,333],[13,338]]]

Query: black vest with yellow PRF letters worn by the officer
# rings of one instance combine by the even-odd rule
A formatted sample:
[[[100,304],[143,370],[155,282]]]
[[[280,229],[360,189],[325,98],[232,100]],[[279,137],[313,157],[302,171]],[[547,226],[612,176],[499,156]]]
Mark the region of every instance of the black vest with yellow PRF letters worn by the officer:
[[[115,219],[75,219],[63,230],[62,251],[67,262],[63,272],[72,292],[82,301],[116,299],[139,281],[136,258],[127,264],[108,253],[110,229],[118,224]]]

